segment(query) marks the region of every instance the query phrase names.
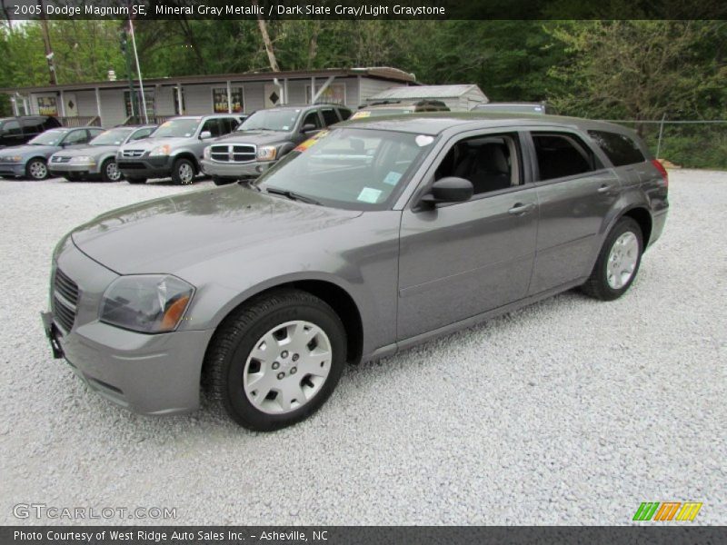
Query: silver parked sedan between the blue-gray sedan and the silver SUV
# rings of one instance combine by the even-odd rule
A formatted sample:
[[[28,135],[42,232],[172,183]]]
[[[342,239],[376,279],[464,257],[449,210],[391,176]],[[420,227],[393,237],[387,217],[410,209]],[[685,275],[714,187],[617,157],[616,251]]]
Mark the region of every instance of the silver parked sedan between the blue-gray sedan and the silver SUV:
[[[51,175],[63,176],[72,182],[89,178],[100,179],[102,182],[118,182],[121,180],[121,172],[116,165],[116,152],[119,147],[146,138],[154,129],[156,125],[109,129],[86,146],[51,155],[48,169]]]

